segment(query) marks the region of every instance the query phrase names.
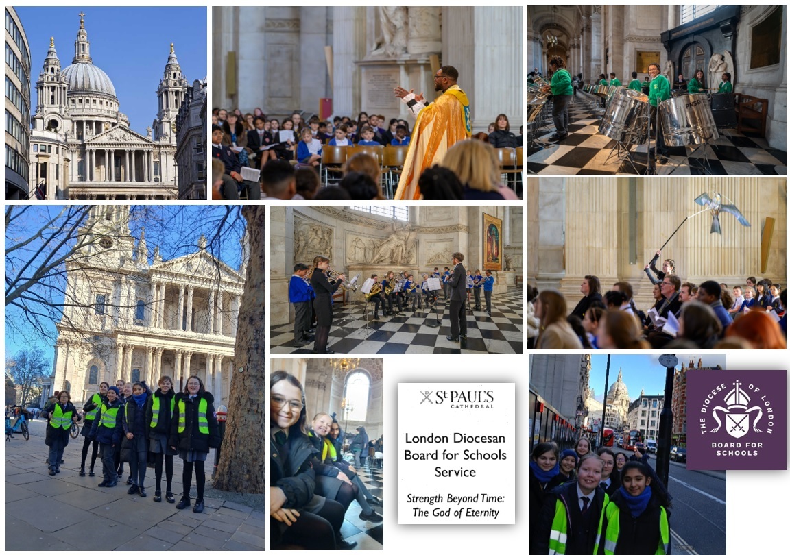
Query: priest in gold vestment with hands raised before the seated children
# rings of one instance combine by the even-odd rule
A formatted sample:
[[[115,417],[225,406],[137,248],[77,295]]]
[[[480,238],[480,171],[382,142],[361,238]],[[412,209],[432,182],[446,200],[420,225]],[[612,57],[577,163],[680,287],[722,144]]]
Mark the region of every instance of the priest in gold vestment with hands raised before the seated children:
[[[395,96],[408,105],[417,121],[404,162],[401,181],[398,182],[396,201],[419,201],[419,175],[440,163],[447,149],[472,137],[469,120],[469,99],[457,85],[458,71],[453,66],[442,66],[434,75],[436,90],[442,91],[434,103],[425,105],[422,95],[414,95],[397,87]]]

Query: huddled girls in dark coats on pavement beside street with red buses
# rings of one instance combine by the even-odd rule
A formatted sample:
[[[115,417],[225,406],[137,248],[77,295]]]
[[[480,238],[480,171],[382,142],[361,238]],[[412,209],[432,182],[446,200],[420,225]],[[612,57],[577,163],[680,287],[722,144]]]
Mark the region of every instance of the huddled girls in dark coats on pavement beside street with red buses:
[[[588,443],[589,445],[589,443]],[[666,555],[671,497],[653,468],[611,449],[540,443],[529,463],[529,554]],[[574,465],[574,460],[577,463]],[[644,459],[643,459],[644,460]]]

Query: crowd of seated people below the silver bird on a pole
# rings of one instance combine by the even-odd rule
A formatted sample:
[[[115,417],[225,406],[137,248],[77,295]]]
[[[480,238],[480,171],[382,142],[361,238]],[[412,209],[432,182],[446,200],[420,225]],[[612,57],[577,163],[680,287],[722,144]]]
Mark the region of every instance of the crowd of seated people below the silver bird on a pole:
[[[668,264],[669,263],[669,264]],[[603,293],[596,276],[581,281],[574,309],[559,291],[528,286],[527,337],[531,349],[784,349],[787,292],[770,279],[745,285],[708,280],[699,285],[664,261],[653,285],[653,306],[639,309],[630,283]]]

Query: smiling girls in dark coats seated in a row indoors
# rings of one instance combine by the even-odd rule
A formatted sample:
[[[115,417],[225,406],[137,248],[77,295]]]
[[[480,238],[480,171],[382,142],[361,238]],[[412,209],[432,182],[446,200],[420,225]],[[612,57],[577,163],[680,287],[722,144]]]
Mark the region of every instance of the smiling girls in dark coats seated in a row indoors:
[[[337,420],[318,413],[307,426],[304,388],[284,371],[272,373],[271,503],[273,549],[352,549],[340,534],[345,512],[358,501],[359,519],[381,523],[371,505],[382,506],[342,457],[343,435]]]

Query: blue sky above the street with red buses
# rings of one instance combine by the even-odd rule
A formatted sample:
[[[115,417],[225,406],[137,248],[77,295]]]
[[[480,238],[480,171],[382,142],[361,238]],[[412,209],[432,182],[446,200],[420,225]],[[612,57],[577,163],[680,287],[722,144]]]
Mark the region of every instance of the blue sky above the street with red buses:
[[[658,357],[663,354],[612,354],[609,366],[609,387],[617,381],[617,373],[623,368],[623,383],[628,387],[628,396],[633,401],[639,396],[642,388],[645,388],[645,395],[663,395],[664,378],[666,372],[664,366],[658,362]],[[716,366],[720,364],[726,369],[725,355],[713,354],[710,351],[702,351],[699,354],[676,354],[679,363],[688,366],[691,358],[694,359],[696,366],[698,359],[702,358],[702,366]],[[604,384],[606,381],[606,354],[593,354],[590,358],[590,387],[595,389],[595,398],[599,401],[604,399]]]

